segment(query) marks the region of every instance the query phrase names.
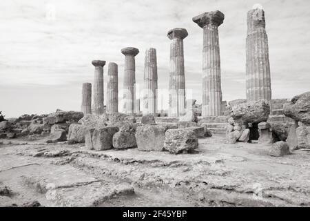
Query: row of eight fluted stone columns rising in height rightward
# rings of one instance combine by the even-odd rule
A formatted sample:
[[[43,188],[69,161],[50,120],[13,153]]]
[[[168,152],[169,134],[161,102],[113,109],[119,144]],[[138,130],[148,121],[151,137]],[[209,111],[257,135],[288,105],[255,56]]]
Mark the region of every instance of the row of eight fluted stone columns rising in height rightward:
[[[218,10],[205,12],[192,20],[203,28],[203,104],[202,115],[223,115],[222,89],[220,80],[220,46],[218,26],[224,21],[224,14]],[[271,82],[269,68],[268,41],[265,30],[265,12],[254,8],[247,13],[247,65],[246,94],[249,101],[258,99],[271,100]],[[185,28],[169,30],[167,37],[170,44],[169,68],[169,116],[185,114],[185,67],[183,39],[188,33]],[[123,80],[123,113],[135,113],[136,108],[136,65],[137,48],[127,47],[121,50],[125,55]],[[83,84],[82,106],[84,114],[103,114],[103,66],[105,61],[92,61],[95,66],[93,85],[93,106],[91,108],[91,84]],[[118,67],[110,63],[107,82],[107,113],[118,112]],[[143,113],[157,112],[157,61],[156,49],[145,51]],[[140,103],[140,101],[139,101]]]

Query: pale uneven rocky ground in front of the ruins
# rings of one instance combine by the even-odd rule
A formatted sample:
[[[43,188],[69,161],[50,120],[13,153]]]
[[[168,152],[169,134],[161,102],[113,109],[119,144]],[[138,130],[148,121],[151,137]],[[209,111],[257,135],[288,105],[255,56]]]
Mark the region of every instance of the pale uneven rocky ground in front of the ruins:
[[[0,140],[0,206],[310,206],[310,151],[199,139],[196,153]]]

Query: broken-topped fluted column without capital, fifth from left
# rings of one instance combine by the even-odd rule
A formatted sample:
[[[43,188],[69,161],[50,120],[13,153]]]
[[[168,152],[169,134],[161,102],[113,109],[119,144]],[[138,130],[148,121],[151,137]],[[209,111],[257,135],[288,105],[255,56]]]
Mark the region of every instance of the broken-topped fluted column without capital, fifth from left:
[[[156,49],[148,48],[145,51],[143,114],[157,112],[157,88]]]

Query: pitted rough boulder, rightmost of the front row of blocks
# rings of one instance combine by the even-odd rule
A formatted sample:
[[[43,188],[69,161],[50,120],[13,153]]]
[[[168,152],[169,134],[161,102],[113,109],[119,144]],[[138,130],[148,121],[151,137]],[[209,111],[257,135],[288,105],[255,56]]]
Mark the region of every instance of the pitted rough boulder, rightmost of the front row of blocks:
[[[166,131],[164,149],[170,153],[190,153],[196,148],[198,148],[198,139],[191,129],[169,129]]]

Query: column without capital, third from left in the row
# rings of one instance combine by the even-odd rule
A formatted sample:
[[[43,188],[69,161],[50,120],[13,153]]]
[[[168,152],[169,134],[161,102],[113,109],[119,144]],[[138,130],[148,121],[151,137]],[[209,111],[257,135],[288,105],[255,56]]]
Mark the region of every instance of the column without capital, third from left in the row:
[[[109,63],[107,70],[107,113],[118,112],[118,67]]]

